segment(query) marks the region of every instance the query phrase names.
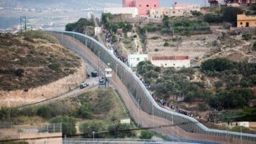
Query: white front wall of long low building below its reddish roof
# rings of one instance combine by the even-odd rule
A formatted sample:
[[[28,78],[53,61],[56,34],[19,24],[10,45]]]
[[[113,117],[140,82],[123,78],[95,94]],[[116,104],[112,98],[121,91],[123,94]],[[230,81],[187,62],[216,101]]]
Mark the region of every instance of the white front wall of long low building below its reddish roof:
[[[190,67],[190,60],[151,60],[158,67]]]

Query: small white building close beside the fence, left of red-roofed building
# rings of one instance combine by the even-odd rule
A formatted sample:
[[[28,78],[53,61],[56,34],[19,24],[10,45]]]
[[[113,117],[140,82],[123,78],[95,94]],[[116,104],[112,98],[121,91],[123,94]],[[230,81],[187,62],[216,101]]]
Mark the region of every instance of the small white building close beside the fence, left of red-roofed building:
[[[129,67],[137,67],[139,62],[147,61],[148,54],[129,54],[127,56],[127,62]]]

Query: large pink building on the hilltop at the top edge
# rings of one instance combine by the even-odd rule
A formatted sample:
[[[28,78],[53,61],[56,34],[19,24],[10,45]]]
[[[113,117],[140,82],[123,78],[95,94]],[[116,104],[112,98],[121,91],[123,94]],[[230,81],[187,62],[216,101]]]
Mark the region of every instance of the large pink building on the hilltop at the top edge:
[[[160,8],[159,0],[123,0],[123,7],[137,7],[140,16],[150,16],[151,9]]]

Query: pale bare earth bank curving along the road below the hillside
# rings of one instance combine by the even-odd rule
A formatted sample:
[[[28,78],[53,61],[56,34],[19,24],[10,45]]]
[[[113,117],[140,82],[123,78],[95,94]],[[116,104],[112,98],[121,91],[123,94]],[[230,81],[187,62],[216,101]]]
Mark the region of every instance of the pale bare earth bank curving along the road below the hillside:
[[[0,91],[0,107],[3,105],[13,107],[27,105],[60,96],[76,88],[85,80],[86,75],[85,65],[81,62],[81,67],[77,69],[74,75],[69,75],[44,86],[30,88],[28,92],[24,90]]]

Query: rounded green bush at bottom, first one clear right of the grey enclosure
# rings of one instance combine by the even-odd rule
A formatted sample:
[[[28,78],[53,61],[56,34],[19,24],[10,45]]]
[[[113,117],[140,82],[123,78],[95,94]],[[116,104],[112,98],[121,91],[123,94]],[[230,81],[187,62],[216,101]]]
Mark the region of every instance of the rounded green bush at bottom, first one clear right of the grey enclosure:
[[[79,126],[79,131],[87,138],[93,137],[93,132],[100,132],[103,130],[105,130],[105,128],[102,120],[89,120],[83,122],[83,124]],[[95,137],[98,137],[98,135],[95,135]]]

